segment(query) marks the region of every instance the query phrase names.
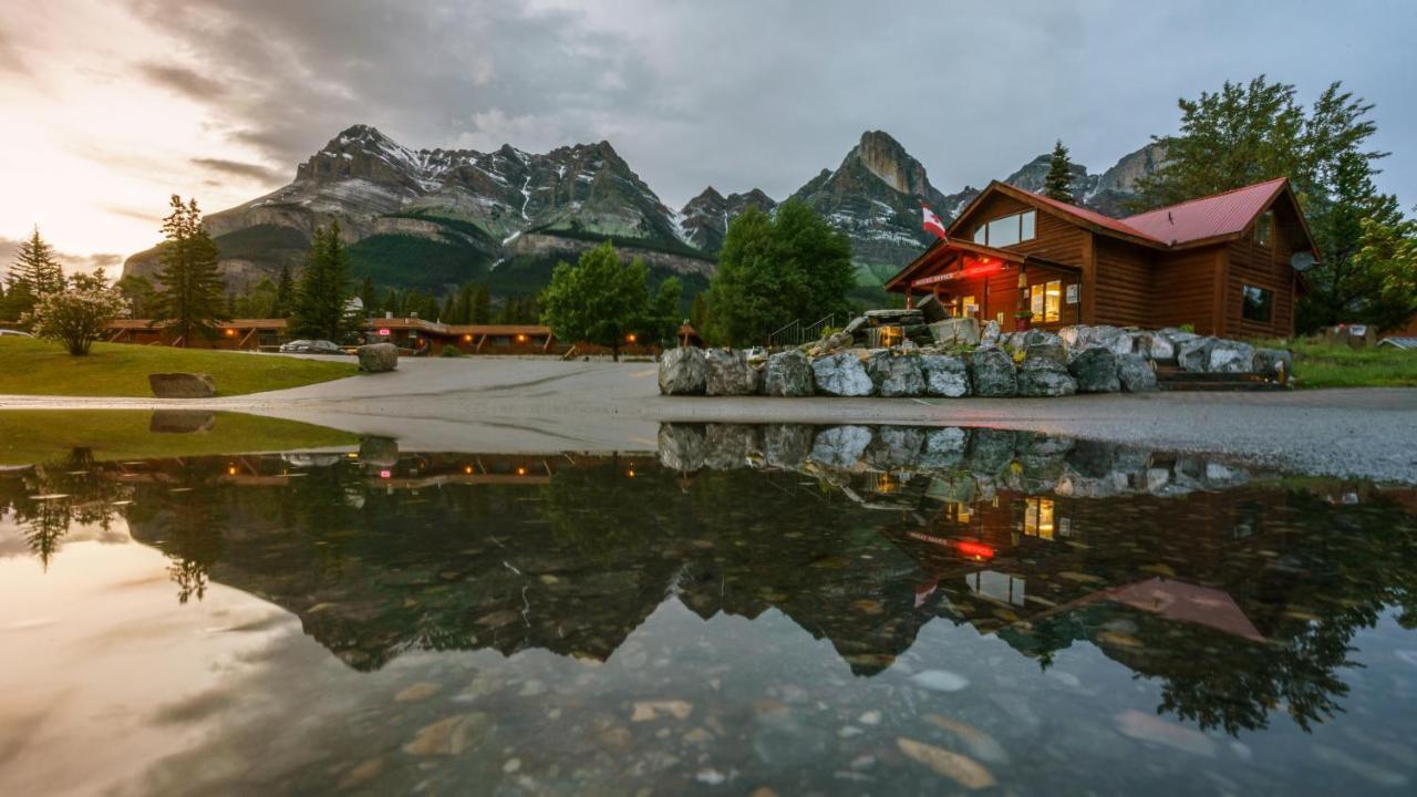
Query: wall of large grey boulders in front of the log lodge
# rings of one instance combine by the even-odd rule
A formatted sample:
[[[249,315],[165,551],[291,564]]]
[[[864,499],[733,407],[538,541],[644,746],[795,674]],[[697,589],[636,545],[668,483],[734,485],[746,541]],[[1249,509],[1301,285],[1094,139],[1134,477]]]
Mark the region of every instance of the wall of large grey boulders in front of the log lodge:
[[[659,390],[666,396],[1053,397],[1156,390],[1158,366],[1268,379],[1282,379],[1292,366],[1285,350],[1180,329],[1078,325],[1057,333],[1000,333],[995,322],[925,325],[913,312],[918,311],[873,311],[815,343],[755,357],[728,349],[670,349],[659,360]],[[864,339],[881,338],[883,318],[910,335],[891,347],[864,347]]]

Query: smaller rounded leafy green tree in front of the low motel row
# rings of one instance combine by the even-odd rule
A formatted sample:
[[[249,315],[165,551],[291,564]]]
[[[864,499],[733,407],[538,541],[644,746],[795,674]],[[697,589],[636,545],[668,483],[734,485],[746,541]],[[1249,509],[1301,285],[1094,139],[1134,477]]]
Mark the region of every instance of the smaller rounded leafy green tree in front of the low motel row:
[[[655,340],[663,333],[663,306],[679,303],[679,281],[666,279],[655,298],[649,294],[649,269],[642,260],[623,262],[605,241],[581,252],[575,265],[557,264],[551,284],[541,294],[543,316],[561,340],[606,346],[619,362],[621,347],[635,340]],[[530,299],[530,298],[527,298]],[[509,298],[504,311],[516,308]],[[521,301],[523,312],[534,313],[534,299]]]

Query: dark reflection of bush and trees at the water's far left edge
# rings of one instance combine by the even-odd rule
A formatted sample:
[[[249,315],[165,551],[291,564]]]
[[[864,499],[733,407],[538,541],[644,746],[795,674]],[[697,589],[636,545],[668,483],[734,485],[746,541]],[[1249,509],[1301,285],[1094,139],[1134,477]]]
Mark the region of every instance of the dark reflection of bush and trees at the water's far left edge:
[[[105,479],[99,468],[91,450],[75,448],[62,459],[35,465],[21,479],[0,482],[0,516],[10,513],[14,518],[30,552],[45,570],[72,525],[112,529],[113,502],[126,498],[129,491]]]

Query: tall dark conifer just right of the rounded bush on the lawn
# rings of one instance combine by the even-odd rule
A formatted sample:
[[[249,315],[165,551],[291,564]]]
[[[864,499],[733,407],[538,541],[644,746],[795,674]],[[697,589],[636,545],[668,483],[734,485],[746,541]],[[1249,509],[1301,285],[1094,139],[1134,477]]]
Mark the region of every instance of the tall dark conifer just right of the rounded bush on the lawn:
[[[201,225],[196,199],[183,204],[181,197],[173,194],[171,213],[163,220],[163,237],[157,252],[162,264],[157,315],[183,346],[190,346],[196,335],[214,338],[215,322],[224,319],[225,285],[217,271],[221,252]]]

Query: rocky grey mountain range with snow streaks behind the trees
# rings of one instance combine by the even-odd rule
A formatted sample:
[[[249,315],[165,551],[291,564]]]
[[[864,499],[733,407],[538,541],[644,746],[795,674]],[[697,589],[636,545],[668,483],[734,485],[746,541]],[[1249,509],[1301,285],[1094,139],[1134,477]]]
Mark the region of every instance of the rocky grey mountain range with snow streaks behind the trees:
[[[1074,196],[1118,214],[1136,179],[1162,160],[1161,147],[1148,145],[1100,174],[1076,165]],[[1047,167],[1040,155],[1006,182],[1041,190]],[[978,193],[941,191],[896,139],[869,130],[836,169],[792,197],[850,237],[859,284],[870,292],[930,244],[921,200],[949,220]],[[354,275],[381,286],[439,294],[483,281],[496,294],[530,294],[557,261],[611,238],[623,254],[642,257],[656,279],[677,275],[689,296],[713,277],[728,224],[748,207],[777,204],[760,189],[724,196],[710,186],[673,210],[609,142],[540,155],[510,145],[487,153],[414,150],[354,125],[300,163],[290,184],[213,213],[205,224],[232,291],[276,278],[283,265],[298,269],[313,230],[339,221]],[[123,265],[125,275],[156,272],[156,250]]]

